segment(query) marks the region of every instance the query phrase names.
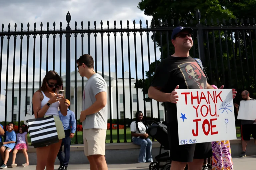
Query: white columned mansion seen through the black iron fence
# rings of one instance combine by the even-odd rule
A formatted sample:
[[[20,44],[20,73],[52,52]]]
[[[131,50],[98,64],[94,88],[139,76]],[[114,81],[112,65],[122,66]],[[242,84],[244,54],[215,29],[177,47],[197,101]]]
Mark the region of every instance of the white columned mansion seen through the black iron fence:
[[[101,72],[98,71],[100,75]],[[108,85],[108,118],[110,118],[110,101],[111,101],[111,115],[112,119],[117,118],[117,114],[119,119],[124,118],[124,113],[126,118],[131,118],[131,110],[130,110],[130,86],[129,86],[129,72],[124,73],[124,93],[123,94],[123,80],[122,78],[115,79],[115,72],[111,72],[111,78],[109,81],[109,73],[104,72],[104,79]],[[80,118],[80,112],[82,111],[82,81],[80,78],[80,74],[77,71],[77,94],[75,93],[75,71],[70,73],[70,91],[71,91],[71,99],[70,99],[70,109],[77,113],[77,119]],[[63,86],[65,86],[65,75],[62,75]],[[87,81],[87,78],[84,77],[84,85]],[[117,88],[116,88],[117,81]],[[143,102],[143,93],[141,89],[138,89],[138,99],[136,88],[134,88],[134,83],[136,82],[135,78],[131,78],[131,96],[132,96],[132,117],[135,117],[135,113],[137,112],[137,102],[139,102],[139,110],[144,114],[144,102]],[[12,113],[12,82],[8,83],[8,93],[7,93],[7,121],[11,121],[11,113]],[[109,84],[111,85],[111,93],[109,92]],[[32,82],[28,82],[28,98],[25,101],[26,96],[26,82],[21,82],[21,121],[25,119],[25,104],[27,110],[29,110],[31,101],[32,101]],[[35,82],[35,91],[39,88],[39,82]],[[116,90],[117,89],[117,90]],[[5,89],[4,89],[5,90]],[[65,87],[64,87],[65,90]],[[116,98],[116,94],[118,94],[118,102]],[[111,100],[110,100],[111,95]],[[125,98],[123,98],[125,96]],[[145,96],[147,98],[147,95]],[[77,106],[75,108],[75,99],[77,99]],[[125,101],[125,103],[123,102]],[[125,104],[125,112],[124,112],[124,104]],[[117,106],[118,105],[118,106]],[[146,115],[151,117],[151,108],[150,102],[145,102],[146,105]],[[157,102],[152,100],[152,112],[153,118],[158,118],[158,110],[157,110]],[[19,82],[14,83],[14,121],[18,121],[19,114]],[[118,108],[118,113],[117,113]],[[76,112],[77,109],[77,112]],[[31,106],[31,114],[32,114],[32,106]],[[159,103],[159,112],[160,112],[160,120],[164,121],[164,107]],[[4,118],[2,118],[4,120]]]

